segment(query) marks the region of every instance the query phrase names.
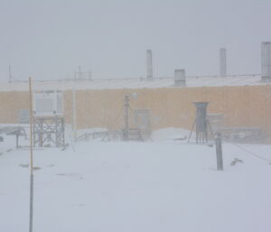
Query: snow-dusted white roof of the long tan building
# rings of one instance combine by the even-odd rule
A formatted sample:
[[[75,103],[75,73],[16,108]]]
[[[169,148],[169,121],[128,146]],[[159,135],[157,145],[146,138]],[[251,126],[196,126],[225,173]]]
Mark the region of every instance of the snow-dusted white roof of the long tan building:
[[[199,76],[187,77],[186,87],[220,87],[220,86],[262,86],[259,74],[234,75],[228,77]],[[28,81],[14,81],[0,83],[0,92],[27,91]],[[36,90],[68,90],[76,89],[120,89],[120,88],[176,88],[173,78],[147,79],[92,79],[92,80],[33,80],[33,88]]]

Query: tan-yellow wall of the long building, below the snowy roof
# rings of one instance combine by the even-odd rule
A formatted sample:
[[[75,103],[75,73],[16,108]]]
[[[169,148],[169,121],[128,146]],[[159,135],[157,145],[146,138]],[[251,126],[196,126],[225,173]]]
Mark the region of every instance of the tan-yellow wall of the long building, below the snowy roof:
[[[201,87],[77,90],[77,128],[123,126],[124,96],[136,92],[131,110],[151,110],[152,129],[183,127],[190,129],[194,120],[193,101],[209,101],[208,113],[223,114],[225,126],[256,126],[271,134],[271,87]],[[0,123],[17,123],[18,109],[28,108],[27,92],[0,93]],[[67,123],[72,122],[72,91],[64,92]],[[130,111],[132,116],[132,111]],[[133,121],[133,118],[130,118]]]

